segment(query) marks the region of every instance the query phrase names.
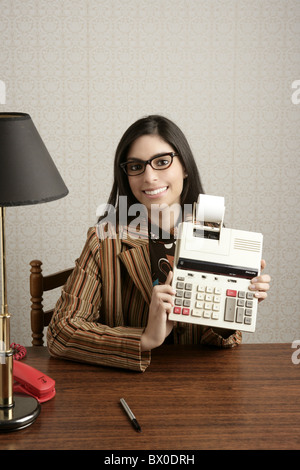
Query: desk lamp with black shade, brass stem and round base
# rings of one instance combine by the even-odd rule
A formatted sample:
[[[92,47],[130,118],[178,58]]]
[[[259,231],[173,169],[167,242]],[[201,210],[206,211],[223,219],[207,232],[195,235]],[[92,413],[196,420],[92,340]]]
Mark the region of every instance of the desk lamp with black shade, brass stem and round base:
[[[5,208],[54,201],[68,194],[29,114],[0,113],[2,309],[0,313],[0,432],[23,429],[40,413],[38,401],[13,393],[13,351],[7,306]]]

